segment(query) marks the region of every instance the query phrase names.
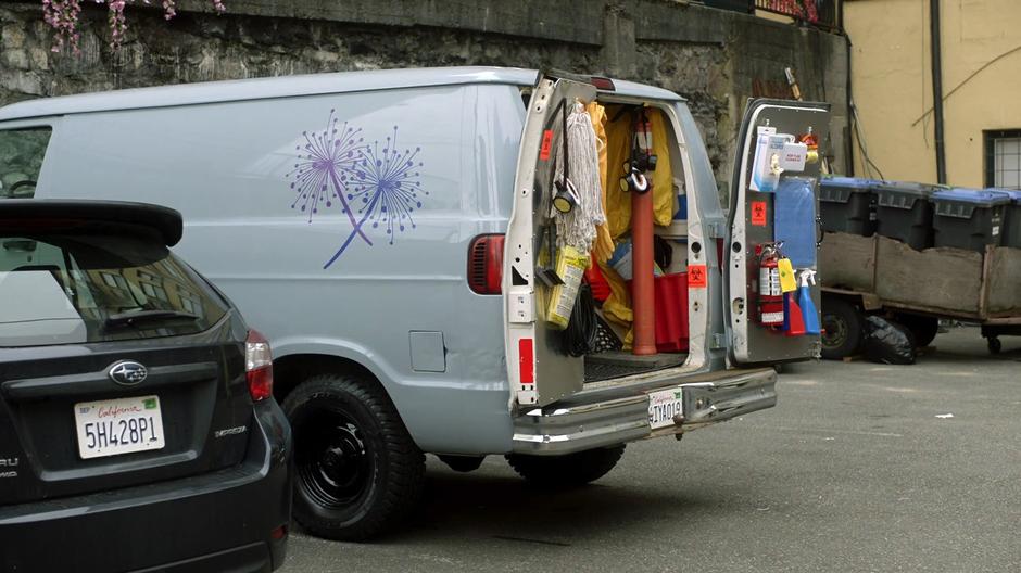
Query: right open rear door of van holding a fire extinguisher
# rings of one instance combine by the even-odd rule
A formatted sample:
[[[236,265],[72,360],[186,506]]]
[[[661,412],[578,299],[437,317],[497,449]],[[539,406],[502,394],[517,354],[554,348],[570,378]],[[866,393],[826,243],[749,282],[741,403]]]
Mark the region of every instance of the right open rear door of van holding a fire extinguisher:
[[[803,292],[802,279],[819,270],[818,178],[829,124],[825,103],[753,100],[745,110],[731,183],[724,266],[733,362],[776,364],[819,356],[820,336],[812,328],[819,324],[819,286],[807,281]],[[812,142],[820,148],[815,153]],[[779,255],[773,255],[772,245],[781,241]],[[791,271],[797,289],[778,292],[790,288]]]

